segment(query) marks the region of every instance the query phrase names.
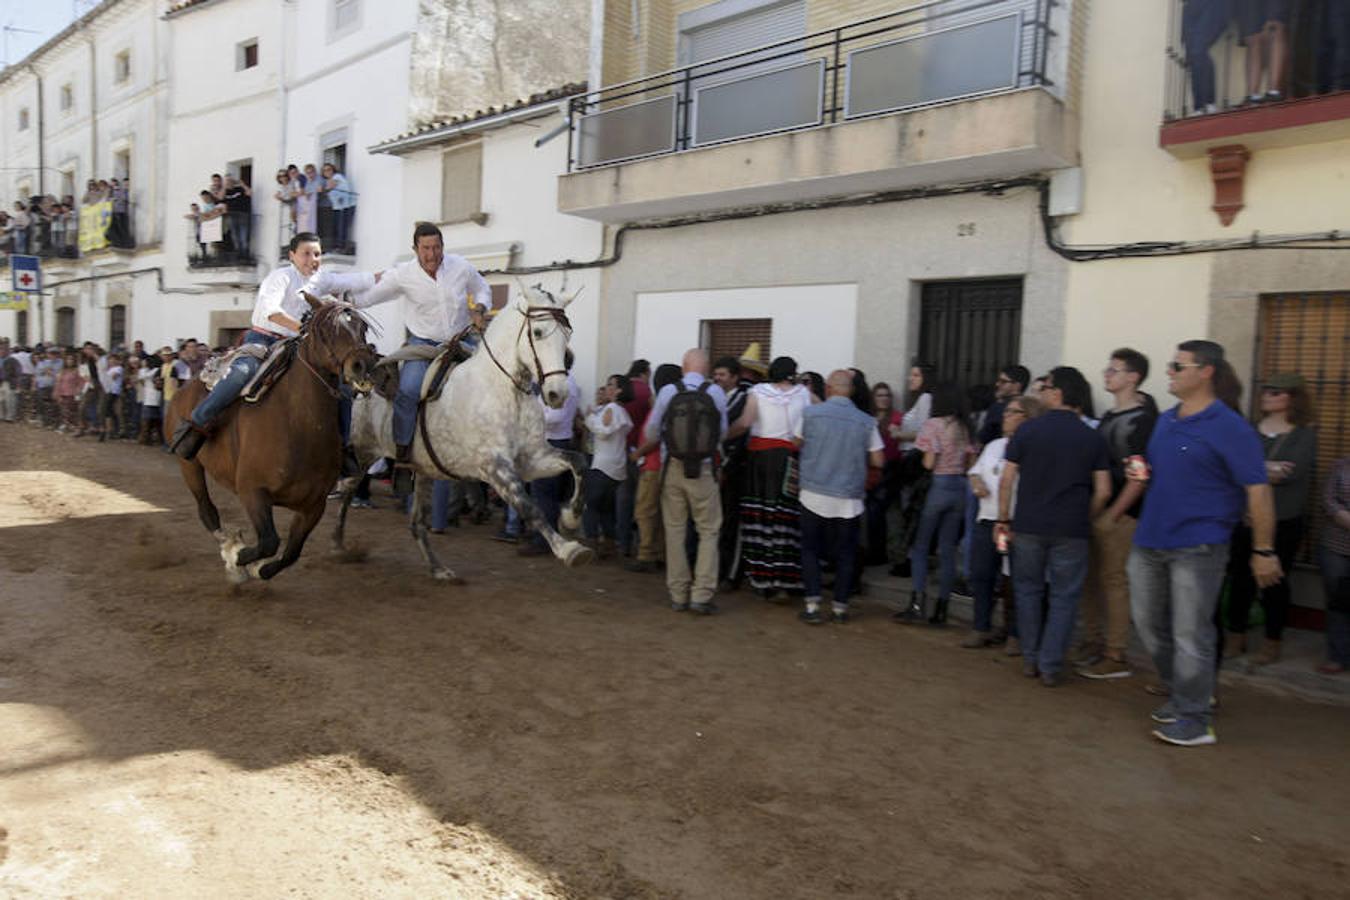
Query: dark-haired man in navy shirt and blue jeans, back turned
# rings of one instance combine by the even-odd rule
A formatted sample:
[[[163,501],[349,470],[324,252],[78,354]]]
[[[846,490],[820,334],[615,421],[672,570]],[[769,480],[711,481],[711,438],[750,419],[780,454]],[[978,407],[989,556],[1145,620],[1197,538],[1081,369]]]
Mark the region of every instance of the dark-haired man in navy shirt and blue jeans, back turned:
[[[1054,687],[1064,679],[1064,654],[1073,640],[1092,519],[1111,495],[1111,460],[1106,441],[1079,414],[1092,395],[1083,372],[1069,366],[1050,370],[1040,395],[1048,412],[1008,441],[994,536],[1011,538],[1022,673]],[[1014,486],[1017,518],[1008,522]],[[1042,631],[1046,584],[1050,609]]]

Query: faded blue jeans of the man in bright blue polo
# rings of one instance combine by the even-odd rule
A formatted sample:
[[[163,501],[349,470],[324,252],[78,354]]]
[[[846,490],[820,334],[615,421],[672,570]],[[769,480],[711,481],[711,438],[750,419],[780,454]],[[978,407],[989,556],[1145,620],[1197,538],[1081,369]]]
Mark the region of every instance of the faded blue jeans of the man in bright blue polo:
[[[1126,573],[1134,627],[1183,718],[1210,721],[1218,642],[1214,611],[1227,565],[1227,544],[1170,551],[1135,545],[1130,551]]]

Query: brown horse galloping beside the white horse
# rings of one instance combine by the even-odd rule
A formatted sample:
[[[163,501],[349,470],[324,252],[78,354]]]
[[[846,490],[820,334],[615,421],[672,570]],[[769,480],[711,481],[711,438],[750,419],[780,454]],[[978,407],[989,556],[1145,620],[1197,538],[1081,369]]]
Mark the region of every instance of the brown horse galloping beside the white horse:
[[[324,514],[328,491],[342,470],[338,409],[343,382],[370,390],[375,354],[366,344],[367,322],[352,306],[305,294],[312,309],[300,333],[290,368],[256,403],[234,403],[216,421],[211,439],[192,460],[180,460],[197,515],[220,541],[231,580],[270,579],[300,557],[309,532]],[[165,417],[171,434],[207,393],[198,379],[180,390]],[[232,490],[255,534],[244,545],[238,532],[220,528],[220,513],[207,491],[207,474]],[[294,513],[286,546],[271,510]]]

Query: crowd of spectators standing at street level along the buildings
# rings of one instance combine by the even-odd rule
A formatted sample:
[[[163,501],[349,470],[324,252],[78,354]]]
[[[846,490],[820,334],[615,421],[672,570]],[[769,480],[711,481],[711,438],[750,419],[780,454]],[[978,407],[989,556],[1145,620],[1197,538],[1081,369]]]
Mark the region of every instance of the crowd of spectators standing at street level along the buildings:
[[[194,340],[157,352],[0,343],[0,421],[162,447],[163,405],[208,356]],[[1350,665],[1350,457],[1314,490],[1315,412],[1300,375],[1266,378],[1247,421],[1223,348],[1203,340],[1169,360],[1179,403],[1166,410],[1142,390],[1150,363],[1130,348],[1100,372],[1112,398],[1100,417],[1072,367],[1033,379],[1010,364],[968,391],[933,372],[914,366],[900,394],[859,370],[826,378],[787,356],[765,366],[753,348],[711,362],[691,349],[655,370],[636,360],[589,403],[568,376],[545,429],[586,453],[585,540],[633,572],[664,571],[676,611],[713,614],[718,595],[747,588],[801,604],[807,625],[844,625],[864,567],[888,565],[913,579],[896,622],[944,627],[965,591],[973,622],[960,645],[1019,656],[1046,687],[1068,672],[1131,676],[1133,627],[1170,694],[1154,734],[1183,745],[1214,742],[1214,673],[1249,652],[1257,602],[1265,638],[1251,663],[1280,658],[1287,576],[1320,506],[1319,671]],[[555,526],[568,479],[531,486]],[[433,530],[466,511],[486,519],[490,498],[482,484],[437,482]],[[354,506],[371,506],[369,479]],[[548,552],[509,507],[494,537]]]

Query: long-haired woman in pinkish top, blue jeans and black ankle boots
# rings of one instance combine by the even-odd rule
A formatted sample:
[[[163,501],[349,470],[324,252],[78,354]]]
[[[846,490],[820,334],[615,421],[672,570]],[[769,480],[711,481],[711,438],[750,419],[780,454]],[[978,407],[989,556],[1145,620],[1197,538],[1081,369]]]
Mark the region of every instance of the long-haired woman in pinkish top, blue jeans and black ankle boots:
[[[956,544],[961,537],[965,514],[965,467],[971,451],[971,429],[965,421],[961,389],[948,382],[933,389],[932,414],[915,440],[923,453],[923,468],[933,474],[918,533],[910,551],[914,592],[909,609],[896,613],[896,621],[913,625],[923,617],[927,600],[927,556],[937,537],[941,582],[929,625],[946,625],[946,607],[956,586]]]

